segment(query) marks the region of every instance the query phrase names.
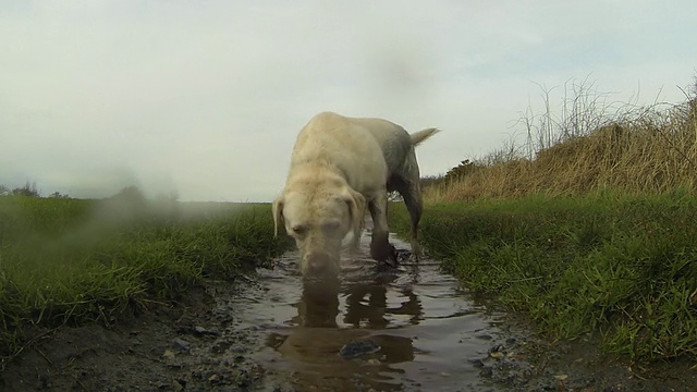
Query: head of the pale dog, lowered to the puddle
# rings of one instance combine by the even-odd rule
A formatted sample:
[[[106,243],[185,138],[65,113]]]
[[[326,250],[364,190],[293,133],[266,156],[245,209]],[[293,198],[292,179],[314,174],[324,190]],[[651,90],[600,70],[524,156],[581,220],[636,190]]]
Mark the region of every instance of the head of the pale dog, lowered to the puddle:
[[[345,183],[289,184],[273,201],[274,235],[283,225],[295,240],[304,277],[335,277],[342,240],[360,235],[365,203]]]

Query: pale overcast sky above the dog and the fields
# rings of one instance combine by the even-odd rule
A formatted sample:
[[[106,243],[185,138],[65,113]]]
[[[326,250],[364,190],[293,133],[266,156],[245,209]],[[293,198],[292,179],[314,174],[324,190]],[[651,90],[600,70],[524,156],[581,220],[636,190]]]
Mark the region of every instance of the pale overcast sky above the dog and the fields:
[[[2,0],[0,184],[270,201],[326,110],[441,128],[417,156],[442,174],[515,137],[539,85],[682,102],[695,15],[695,0]]]

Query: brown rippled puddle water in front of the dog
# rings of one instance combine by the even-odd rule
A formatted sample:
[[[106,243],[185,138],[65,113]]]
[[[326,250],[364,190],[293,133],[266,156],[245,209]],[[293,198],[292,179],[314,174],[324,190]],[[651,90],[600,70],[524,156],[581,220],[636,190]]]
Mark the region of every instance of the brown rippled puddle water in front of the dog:
[[[369,233],[362,238],[365,256],[344,258],[337,283],[304,285],[296,252],[259,271],[259,290],[235,301],[237,320],[266,334],[255,360],[297,390],[500,390],[476,366],[500,334],[497,315],[440,272],[436,260],[406,257],[399,269],[378,271],[368,243]],[[344,344],[368,338],[380,351],[339,355]]]

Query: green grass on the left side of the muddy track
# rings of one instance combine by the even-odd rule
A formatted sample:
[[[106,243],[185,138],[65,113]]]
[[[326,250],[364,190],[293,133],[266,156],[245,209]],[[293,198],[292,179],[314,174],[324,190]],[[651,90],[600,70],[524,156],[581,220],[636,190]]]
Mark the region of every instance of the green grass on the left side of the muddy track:
[[[23,328],[99,321],[234,279],[282,250],[269,205],[0,197],[0,351]]]

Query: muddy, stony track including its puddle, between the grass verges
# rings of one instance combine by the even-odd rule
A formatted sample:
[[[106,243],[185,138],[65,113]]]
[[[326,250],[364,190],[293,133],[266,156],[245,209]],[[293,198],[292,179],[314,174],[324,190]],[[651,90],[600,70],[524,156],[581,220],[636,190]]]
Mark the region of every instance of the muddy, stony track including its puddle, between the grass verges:
[[[632,368],[592,342],[550,342],[438,269],[367,255],[335,282],[303,284],[297,255],[247,279],[149,303],[109,328],[35,332],[1,391],[697,391],[683,363]],[[379,350],[339,355],[370,340]],[[359,345],[358,345],[359,346]]]

